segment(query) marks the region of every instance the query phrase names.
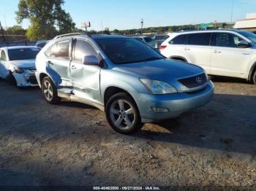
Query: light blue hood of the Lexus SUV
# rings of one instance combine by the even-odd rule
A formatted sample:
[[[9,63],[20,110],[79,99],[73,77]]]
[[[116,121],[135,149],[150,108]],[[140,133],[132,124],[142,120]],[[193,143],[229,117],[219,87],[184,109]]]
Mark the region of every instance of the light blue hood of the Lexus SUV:
[[[193,75],[203,73],[203,69],[199,66],[171,59],[122,64],[116,66],[113,70],[163,82],[173,82],[175,79],[192,77]]]

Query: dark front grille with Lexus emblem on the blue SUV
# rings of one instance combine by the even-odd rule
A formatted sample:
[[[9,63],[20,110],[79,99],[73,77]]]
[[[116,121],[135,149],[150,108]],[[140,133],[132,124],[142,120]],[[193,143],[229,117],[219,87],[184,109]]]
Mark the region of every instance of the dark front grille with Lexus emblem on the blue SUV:
[[[200,74],[195,77],[179,79],[178,82],[181,82],[181,84],[188,88],[196,88],[205,85],[207,82],[207,77],[206,74]]]

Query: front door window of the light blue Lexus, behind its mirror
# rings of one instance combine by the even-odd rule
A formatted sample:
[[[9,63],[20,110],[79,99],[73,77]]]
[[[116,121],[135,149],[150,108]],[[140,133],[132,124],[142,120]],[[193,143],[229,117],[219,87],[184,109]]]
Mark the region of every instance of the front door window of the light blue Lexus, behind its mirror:
[[[98,53],[89,42],[78,39],[75,43],[74,61],[83,62],[85,55],[94,55],[98,58]]]

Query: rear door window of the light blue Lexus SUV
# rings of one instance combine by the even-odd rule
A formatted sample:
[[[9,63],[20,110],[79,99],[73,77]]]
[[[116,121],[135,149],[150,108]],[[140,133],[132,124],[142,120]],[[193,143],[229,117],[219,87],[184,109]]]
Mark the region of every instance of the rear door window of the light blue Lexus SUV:
[[[69,59],[69,40],[57,42],[51,52],[53,58]]]

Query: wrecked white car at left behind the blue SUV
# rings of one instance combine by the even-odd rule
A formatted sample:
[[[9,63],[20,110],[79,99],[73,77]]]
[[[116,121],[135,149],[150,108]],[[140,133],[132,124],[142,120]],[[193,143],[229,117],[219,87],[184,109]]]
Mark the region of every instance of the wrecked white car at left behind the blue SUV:
[[[35,58],[38,47],[1,47],[0,77],[18,87],[37,86]]]

